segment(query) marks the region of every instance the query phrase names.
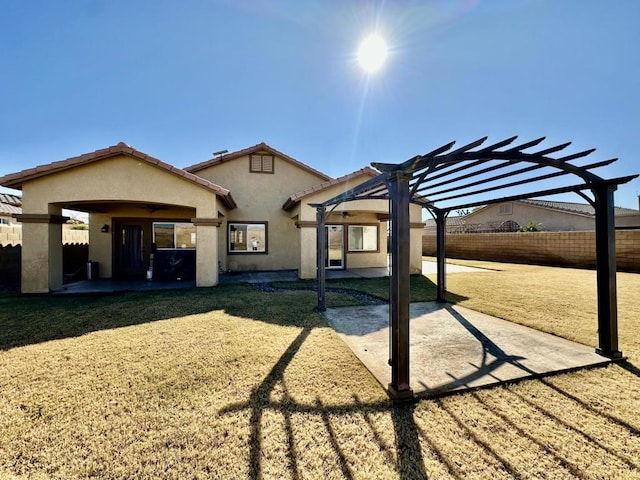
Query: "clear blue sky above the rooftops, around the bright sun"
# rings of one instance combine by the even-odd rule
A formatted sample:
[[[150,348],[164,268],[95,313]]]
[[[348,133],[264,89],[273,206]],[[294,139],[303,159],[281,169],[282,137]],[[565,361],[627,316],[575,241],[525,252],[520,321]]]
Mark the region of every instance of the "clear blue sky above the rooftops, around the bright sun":
[[[637,0],[4,0],[0,176],[119,141],[179,167],[264,141],[340,176],[485,135],[639,173],[639,24]]]

